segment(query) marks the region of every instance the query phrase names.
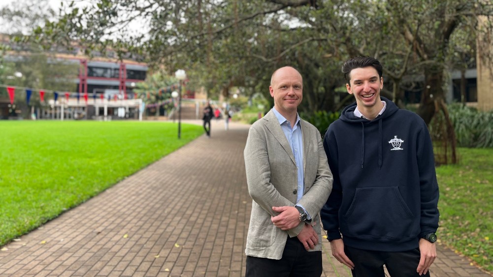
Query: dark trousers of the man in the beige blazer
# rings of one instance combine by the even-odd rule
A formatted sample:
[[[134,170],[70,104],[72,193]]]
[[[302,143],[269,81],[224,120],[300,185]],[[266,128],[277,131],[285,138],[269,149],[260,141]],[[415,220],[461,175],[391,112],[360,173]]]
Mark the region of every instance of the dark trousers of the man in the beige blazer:
[[[281,260],[246,256],[246,277],[320,277],[322,252],[307,251],[298,238],[288,238]]]

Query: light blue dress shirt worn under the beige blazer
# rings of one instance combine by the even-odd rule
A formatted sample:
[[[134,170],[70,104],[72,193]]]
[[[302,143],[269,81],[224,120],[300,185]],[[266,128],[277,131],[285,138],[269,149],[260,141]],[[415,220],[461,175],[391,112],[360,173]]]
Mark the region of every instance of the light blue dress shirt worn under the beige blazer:
[[[291,128],[291,122],[284,118],[284,116],[282,116],[282,114],[279,113],[276,108],[272,108],[272,110],[279,120],[282,132],[286,136],[287,141],[289,142],[289,146],[291,146],[291,151],[293,151],[294,161],[296,162],[296,169],[298,170],[298,193],[296,198],[296,203],[298,203],[301,197],[303,197],[303,191],[305,189],[305,174],[303,171],[303,136],[301,133],[300,116],[296,114],[296,123],[294,124],[294,127]],[[303,206],[299,204],[296,204],[295,206],[301,207],[305,212],[307,212]],[[308,212],[307,215],[308,219],[312,218],[310,214],[308,214]]]

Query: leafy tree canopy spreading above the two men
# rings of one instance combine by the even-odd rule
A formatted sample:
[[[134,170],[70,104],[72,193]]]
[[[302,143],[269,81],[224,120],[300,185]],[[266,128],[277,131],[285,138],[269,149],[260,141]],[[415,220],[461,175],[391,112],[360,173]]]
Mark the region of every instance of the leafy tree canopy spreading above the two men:
[[[342,61],[380,59],[385,96],[402,102],[409,76],[420,76],[420,115],[430,122],[444,98],[446,70],[474,57],[477,16],[493,15],[483,0],[93,0],[61,9],[58,21],[33,33],[45,45],[111,49],[170,73],[186,69],[190,85],[227,95],[233,86],[268,93],[270,74],[283,65],[304,77],[305,110],[337,110],[347,101]],[[490,26],[486,31],[491,32]],[[454,39],[464,30],[467,41]],[[489,36],[491,38],[491,36]],[[406,79],[407,77],[407,79]],[[419,79],[418,78],[418,79]],[[412,78],[411,78],[412,79]]]

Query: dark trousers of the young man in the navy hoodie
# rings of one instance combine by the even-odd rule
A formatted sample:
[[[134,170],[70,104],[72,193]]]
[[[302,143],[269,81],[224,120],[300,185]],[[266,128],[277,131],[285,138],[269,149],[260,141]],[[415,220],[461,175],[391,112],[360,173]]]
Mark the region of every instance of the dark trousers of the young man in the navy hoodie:
[[[403,252],[384,252],[353,248],[344,245],[346,256],[354,263],[353,277],[385,277],[384,265],[391,277],[420,276],[420,249]],[[429,270],[423,276],[430,276]]]

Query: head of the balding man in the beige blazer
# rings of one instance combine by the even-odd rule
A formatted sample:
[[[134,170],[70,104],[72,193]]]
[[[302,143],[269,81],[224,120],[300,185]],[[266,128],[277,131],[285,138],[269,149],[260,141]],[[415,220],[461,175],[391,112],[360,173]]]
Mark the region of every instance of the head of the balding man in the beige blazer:
[[[274,107],[287,119],[293,113],[296,114],[303,99],[301,74],[291,67],[278,69],[272,75],[269,91],[274,98]]]

